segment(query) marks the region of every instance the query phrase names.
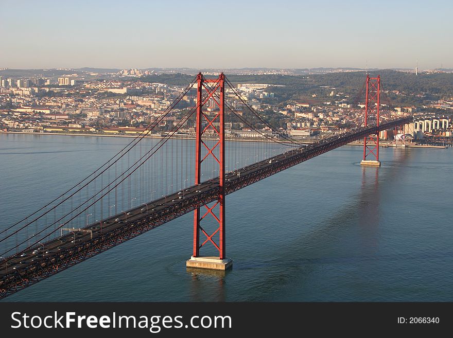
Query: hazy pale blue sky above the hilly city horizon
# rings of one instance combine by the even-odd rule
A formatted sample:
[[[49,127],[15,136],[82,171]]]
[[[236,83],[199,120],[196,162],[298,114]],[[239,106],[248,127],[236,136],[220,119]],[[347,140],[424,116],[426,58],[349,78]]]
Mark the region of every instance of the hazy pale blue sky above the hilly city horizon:
[[[453,0],[0,0],[0,67],[453,68]]]

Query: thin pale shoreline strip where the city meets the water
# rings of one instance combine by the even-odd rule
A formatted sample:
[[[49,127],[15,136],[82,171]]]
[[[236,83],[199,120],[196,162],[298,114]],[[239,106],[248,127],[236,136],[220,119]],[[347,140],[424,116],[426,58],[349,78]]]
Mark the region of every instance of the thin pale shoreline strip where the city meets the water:
[[[140,134],[137,135],[106,135],[106,134],[76,134],[76,133],[37,133],[37,132],[20,132],[20,131],[0,131],[0,134],[22,134],[22,135],[52,135],[52,136],[91,136],[91,137],[137,137]],[[164,136],[158,136],[158,135],[147,135],[144,136],[144,138],[165,138]],[[194,136],[186,136],[186,137],[171,137],[171,139],[195,139]],[[214,140],[214,139],[213,139]],[[235,142],[272,142],[271,140],[267,139],[262,139],[262,140],[256,140],[256,139],[229,139],[225,138],[225,141],[235,141]],[[306,141],[306,140],[298,140],[298,143],[302,144],[310,144],[312,142]],[[345,146],[362,146],[363,143],[348,143]],[[405,147],[403,146],[395,146],[393,143],[379,143],[379,147],[383,148],[433,148],[433,149],[446,149],[448,148],[447,146],[425,146],[425,145],[406,145]]]

